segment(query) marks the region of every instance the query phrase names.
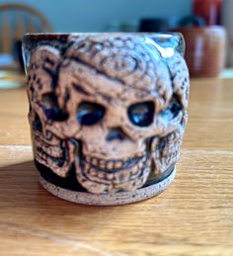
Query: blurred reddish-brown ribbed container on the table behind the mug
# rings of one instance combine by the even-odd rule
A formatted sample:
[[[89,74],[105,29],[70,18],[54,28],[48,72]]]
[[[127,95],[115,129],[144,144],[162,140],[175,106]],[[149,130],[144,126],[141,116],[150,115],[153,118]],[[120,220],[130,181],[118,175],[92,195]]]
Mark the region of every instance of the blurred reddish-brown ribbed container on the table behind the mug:
[[[180,28],[191,77],[216,77],[224,67],[226,32],[221,26]]]

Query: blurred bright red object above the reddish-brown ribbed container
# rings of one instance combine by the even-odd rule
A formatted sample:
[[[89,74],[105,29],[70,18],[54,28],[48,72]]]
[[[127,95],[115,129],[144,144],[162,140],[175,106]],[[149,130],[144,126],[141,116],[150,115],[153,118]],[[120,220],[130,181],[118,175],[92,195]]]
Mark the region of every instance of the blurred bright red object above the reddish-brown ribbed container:
[[[206,25],[219,25],[221,0],[194,0],[194,15],[201,16]]]

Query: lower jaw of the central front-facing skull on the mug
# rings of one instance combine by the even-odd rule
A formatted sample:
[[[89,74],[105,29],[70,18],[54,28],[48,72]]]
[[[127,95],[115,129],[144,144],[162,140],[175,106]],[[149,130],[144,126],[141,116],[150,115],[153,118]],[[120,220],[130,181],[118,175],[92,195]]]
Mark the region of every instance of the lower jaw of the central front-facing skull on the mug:
[[[151,170],[149,162],[147,157],[142,157],[131,167],[106,170],[76,159],[76,177],[87,191],[94,194],[134,191],[145,184]]]

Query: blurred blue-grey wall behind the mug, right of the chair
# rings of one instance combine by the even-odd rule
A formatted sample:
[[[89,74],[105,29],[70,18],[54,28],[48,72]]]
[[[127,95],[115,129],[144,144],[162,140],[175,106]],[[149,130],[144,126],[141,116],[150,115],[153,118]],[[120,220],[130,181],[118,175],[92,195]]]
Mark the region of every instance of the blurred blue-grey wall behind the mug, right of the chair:
[[[10,2],[2,1],[0,3]],[[56,32],[101,32],[114,21],[191,13],[191,0],[14,0],[41,11]]]

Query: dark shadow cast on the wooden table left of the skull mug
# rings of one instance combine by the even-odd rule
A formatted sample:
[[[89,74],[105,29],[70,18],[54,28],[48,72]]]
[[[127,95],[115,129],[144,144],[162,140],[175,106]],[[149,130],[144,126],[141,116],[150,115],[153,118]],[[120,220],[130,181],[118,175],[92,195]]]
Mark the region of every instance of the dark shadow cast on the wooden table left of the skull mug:
[[[98,215],[120,214],[135,206],[98,207],[66,202],[40,186],[34,161],[0,167],[0,209],[5,209],[9,214],[75,215],[97,220]]]

